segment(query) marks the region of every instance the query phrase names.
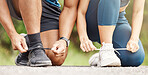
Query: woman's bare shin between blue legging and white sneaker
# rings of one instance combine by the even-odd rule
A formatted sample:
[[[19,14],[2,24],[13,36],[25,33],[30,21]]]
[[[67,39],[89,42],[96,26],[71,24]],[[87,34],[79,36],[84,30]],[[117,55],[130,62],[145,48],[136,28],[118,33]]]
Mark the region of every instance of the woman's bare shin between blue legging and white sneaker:
[[[115,26],[98,26],[101,43],[112,43]]]

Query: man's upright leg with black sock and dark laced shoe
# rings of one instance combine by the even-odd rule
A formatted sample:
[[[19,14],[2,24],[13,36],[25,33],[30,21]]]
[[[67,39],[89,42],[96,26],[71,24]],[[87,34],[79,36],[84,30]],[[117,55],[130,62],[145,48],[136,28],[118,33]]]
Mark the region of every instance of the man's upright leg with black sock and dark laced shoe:
[[[35,48],[29,52],[28,63],[29,66],[48,66],[52,65],[50,59],[46,56],[42,49],[42,43],[40,38],[40,21],[42,14],[42,0],[18,0],[15,4],[17,13],[20,12],[24,24],[27,29],[29,38],[29,47]],[[20,57],[21,58],[21,57]],[[23,60],[23,59],[22,59]]]

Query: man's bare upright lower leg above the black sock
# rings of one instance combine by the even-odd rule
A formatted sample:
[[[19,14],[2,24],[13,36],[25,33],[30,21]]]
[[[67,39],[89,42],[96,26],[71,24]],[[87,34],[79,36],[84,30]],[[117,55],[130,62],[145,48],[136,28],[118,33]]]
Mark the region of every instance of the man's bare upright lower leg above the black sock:
[[[13,0],[16,12],[21,14],[28,34],[40,32],[41,0]]]

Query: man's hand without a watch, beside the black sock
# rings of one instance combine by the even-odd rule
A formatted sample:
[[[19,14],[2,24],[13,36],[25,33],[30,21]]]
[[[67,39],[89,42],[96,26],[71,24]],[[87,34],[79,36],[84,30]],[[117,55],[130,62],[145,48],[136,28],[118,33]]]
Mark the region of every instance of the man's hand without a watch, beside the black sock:
[[[28,47],[23,36],[16,33],[13,34],[10,39],[14,50],[19,50],[21,53],[27,52]]]

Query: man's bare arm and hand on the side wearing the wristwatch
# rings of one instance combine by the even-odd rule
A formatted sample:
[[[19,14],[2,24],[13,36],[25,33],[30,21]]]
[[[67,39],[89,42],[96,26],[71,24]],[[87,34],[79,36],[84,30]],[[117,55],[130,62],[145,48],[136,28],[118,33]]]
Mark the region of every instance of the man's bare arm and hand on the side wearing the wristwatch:
[[[70,38],[77,16],[78,0],[64,0],[64,7],[59,17],[60,37]],[[65,40],[58,40],[52,47],[54,53],[62,53],[66,50]]]

